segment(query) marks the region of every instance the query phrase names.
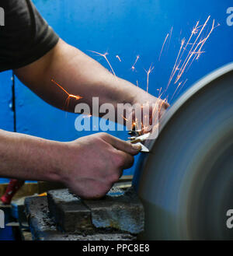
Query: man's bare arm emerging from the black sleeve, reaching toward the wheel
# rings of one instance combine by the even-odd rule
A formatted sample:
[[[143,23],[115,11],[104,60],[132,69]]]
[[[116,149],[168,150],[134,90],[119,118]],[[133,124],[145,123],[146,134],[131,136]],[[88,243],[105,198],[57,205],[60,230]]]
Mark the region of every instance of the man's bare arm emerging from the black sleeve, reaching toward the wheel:
[[[82,96],[70,99],[68,110],[74,112],[75,104],[85,102],[92,109],[92,97],[99,97],[99,105],[112,103],[155,103],[157,98],[124,79],[115,77],[97,61],[77,48],[59,40],[53,50],[43,58],[15,70],[19,79],[43,100],[64,108],[68,95],[50,80],[55,79],[70,94]],[[160,100],[162,111],[167,104]]]

